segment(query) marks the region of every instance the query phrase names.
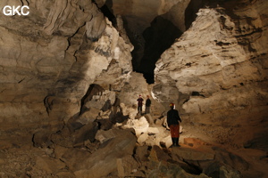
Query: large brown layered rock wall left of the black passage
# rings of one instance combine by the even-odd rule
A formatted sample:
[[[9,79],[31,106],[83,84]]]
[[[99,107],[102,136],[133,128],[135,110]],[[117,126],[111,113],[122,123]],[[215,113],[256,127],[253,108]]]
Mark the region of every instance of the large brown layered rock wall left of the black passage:
[[[0,18],[1,127],[59,125],[80,112],[89,85],[121,89],[133,46],[96,4],[29,1],[29,10]]]

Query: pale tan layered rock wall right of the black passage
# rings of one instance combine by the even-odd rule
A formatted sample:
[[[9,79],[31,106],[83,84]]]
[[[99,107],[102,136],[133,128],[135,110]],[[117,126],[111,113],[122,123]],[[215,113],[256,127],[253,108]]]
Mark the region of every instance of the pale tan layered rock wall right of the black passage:
[[[200,9],[157,61],[153,93],[177,103],[183,120],[220,142],[267,149],[264,140],[255,141],[264,139],[268,116],[268,4],[244,3],[231,5],[238,11],[227,4]]]

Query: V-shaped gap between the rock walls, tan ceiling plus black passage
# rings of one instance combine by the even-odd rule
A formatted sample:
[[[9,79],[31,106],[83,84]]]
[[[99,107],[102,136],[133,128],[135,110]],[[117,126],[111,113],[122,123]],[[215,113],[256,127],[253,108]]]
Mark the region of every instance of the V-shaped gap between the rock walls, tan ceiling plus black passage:
[[[120,14],[124,27],[135,45],[132,54],[134,71],[144,74],[147,83],[154,83],[155,62],[175,38],[196,18],[205,1],[190,0],[109,0],[96,1],[113,14]]]

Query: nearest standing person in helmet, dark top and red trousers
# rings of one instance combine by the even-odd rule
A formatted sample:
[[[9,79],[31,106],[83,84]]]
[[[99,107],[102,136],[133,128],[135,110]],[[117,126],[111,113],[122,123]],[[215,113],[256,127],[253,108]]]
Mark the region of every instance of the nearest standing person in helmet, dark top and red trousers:
[[[172,146],[180,147],[180,123],[181,119],[178,110],[174,109],[174,103],[170,104],[170,110],[167,112],[167,124],[171,129],[172,134]]]

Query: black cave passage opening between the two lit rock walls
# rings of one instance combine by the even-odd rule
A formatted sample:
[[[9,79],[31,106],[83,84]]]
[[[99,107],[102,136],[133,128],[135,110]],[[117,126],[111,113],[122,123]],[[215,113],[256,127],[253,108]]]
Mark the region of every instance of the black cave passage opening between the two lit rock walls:
[[[142,34],[133,32],[129,28],[128,21],[124,20],[124,27],[134,45],[132,55],[133,71],[142,73],[148,84],[154,84],[155,63],[161,54],[174,43],[176,38],[182,35],[179,28],[172,24],[172,21],[157,16]]]

